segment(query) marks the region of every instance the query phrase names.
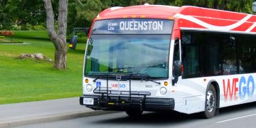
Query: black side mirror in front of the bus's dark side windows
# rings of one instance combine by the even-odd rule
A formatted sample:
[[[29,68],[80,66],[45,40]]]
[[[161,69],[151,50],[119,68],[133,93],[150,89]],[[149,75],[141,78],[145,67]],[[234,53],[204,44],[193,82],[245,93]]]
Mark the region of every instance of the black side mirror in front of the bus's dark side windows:
[[[182,73],[181,61],[175,60],[174,61],[174,70],[173,70],[173,75],[174,75],[173,85],[178,82],[178,77],[181,76],[181,73]]]

